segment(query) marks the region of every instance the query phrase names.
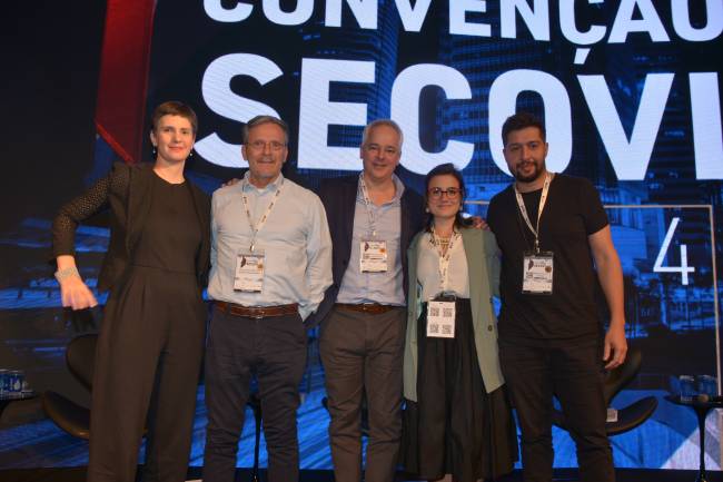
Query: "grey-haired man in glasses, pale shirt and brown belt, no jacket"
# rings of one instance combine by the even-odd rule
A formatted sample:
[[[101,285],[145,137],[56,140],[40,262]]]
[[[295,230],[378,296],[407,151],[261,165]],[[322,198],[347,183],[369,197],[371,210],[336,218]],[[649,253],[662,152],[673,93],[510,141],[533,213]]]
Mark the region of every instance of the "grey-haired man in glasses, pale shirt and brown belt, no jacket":
[[[306,361],[303,321],[331,284],[324,206],[286,179],[286,122],[258,116],[244,128],[244,179],[214,193],[214,298],[206,352],[208,427],[204,480],[231,482],[238,439],[256,375],[270,482],[298,481],[296,410]]]

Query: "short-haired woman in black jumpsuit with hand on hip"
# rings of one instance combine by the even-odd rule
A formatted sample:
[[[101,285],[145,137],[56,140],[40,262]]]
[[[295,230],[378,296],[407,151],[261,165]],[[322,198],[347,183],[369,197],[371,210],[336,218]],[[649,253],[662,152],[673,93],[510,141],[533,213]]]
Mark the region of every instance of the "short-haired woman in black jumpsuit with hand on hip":
[[[184,481],[204,347],[208,196],[184,177],[195,112],[165,102],[152,116],[156,161],[116,164],[53,222],[63,306],[97,304],[75,264],[78,223],[109,207],[111,235],[98,288],[110,289],[96,352],[88,480],[136,476],[148,427],[146,481]]]

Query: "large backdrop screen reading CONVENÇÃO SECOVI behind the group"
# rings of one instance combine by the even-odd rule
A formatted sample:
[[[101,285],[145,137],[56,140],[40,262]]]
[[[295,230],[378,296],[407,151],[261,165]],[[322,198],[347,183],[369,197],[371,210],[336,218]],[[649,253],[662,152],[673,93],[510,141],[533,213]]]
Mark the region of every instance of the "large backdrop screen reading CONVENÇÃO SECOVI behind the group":
[[[607,206],[627,335],[644,354],[626,400],[661,396],[679,374],[720,378],[721,0],[159,0],[155,10],[129,1],[125,20],[138,8],[139,30],[106,30],[103,62],[112,65],[103,71],[118,78],[101,82],[97,141],[103,9],[91,3],[73,7],[78,17],[55,7],[67,22],[42,16],[47,30],[22,23],[19,11],[42,41],[18,28],[10,65],[19,68],[6,73],[22,95],[6,90],[17,112],[4,121],[22,124],[2,156],[11,186],[0,233],[0,365],[26,368],[37,388],[68,383],[57,376],[65,343],[99,323],[58,308],[48,229],[59,204],[113,159],[150,157],[147,116],[128,124],[111,115],[126,112],[112,99],[129,96],[139,112],[168,99],[194,106],[190,177],[209,193],[240,175],[240,127],[255,115],[290,124],[285,174],[310,188],[357,171],[363,126],[390,117],[405,131],[405,184],[418,189],[433,166],[453,161],[469,187],[468,210],[483,216],[511,181],[501,125],[515,109],[532,110],[547,124],[548,168],[591,179]],[[129,61],[130,50],[138,56]],[[129,72],[142,81],[125,88]],[[101,222],[79,232],[91,283],[107,239]],[[616,452],[616,463],[695,466],[686,415],[661,401],[645,436]],[[721,421],[709,430],[719,439]],[[709,458],[720,468],[716,441]]]

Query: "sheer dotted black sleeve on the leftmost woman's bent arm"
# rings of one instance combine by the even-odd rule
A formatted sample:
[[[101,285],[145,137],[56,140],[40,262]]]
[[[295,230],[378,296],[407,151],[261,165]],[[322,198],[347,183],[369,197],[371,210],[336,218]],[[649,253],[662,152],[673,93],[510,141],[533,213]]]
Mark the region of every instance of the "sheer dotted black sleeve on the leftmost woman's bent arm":
[[[111,193],[122,193],[128,188],[129,169],[116,163],[112,170],[99,179],[86,193],[60,208],[52,222],[52,256],[76,254],[76,229],[90,216],[108,207]]]

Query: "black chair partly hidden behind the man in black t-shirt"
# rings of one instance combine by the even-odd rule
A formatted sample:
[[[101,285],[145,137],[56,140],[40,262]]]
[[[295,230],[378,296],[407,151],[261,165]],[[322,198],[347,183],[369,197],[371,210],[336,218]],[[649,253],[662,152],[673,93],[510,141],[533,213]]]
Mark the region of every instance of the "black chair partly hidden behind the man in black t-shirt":
[[[604,386],[605,404],[607,406],[610,406],[615,395],[637,376],[642,362],[643,355],[641,351],[632,347],[627,352],[625,362],[607,372]],[[653,415],[655,409],[657,409],[657,399],[646,396],[618,410],[617,421],[605,423],[607,435],[617,435],[637,427]],[[558,410],[553,412],[553,423],[561,429],[570,430],[565,422],[565,415]]]

